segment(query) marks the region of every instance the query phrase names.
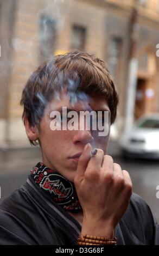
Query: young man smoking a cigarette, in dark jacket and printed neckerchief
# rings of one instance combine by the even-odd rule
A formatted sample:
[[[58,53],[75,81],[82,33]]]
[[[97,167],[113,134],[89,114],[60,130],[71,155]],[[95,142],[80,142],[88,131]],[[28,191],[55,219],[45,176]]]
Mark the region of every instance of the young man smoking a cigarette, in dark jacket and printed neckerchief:
[[[21,105],[42,160],[24,186],[1,199],[1,245],[158,244],[149,206],[106,155],[118,94],[105,63],[81,52],[56,56],[31,75]],[[89,127],[80,115],[86,111],[93,112]],[[93,122],[107,126],[105,133]]]

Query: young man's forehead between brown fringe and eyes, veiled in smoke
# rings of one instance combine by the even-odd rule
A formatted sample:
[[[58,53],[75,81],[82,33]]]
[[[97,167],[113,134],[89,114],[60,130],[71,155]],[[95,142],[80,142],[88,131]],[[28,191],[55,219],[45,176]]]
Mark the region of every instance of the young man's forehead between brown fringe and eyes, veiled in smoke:
[[[53,97],[53,99],[48,103],[47,111],[53,111],[61,107],[67,107],[75,110],[103,110],[110,111],[107,105],[106,99],[101,95],[81,95],[78,94],[66,94],[60,93]]]

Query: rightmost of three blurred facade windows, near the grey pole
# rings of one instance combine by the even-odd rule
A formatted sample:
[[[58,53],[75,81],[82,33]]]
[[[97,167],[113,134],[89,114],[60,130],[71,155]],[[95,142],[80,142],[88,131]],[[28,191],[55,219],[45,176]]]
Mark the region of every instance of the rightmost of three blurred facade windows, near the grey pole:
[[[114,36],[109,44],[109,69],[113,77],[118,79],[120,53],[122,49],[122,39]]]

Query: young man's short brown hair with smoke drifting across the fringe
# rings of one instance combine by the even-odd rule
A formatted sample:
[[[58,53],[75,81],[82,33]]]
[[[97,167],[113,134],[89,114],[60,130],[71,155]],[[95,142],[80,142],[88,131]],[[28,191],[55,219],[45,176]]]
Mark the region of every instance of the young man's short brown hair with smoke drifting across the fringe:
[[[22,92],[22,119],[27,115],[30,125],[39,125],[47,103],[63,87],[73,95],[83,92],[105,96],[111,112],[111,124],[115,121],[118,93],[106,63],[79,51],[55,56],[33,72]]]

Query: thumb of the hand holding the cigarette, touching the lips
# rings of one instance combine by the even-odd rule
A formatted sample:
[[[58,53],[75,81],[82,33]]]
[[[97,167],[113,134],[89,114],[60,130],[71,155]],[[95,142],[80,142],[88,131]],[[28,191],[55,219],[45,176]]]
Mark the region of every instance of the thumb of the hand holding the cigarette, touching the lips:
[[[87,168],[87,164],[88,164],[88,162],[90,161],[90,158],[91,158],[91,150],[92,150],[91,144],[87,143],[85,145],[84,151],[82,152],[82,154],[79,158],[79,161],[78,161],[78,167],[77,167],[77,171],[76,171],[76,176],[78,178],[80,178],[80,177],[82,178],[82,176],[85,173],[85,170]]]

